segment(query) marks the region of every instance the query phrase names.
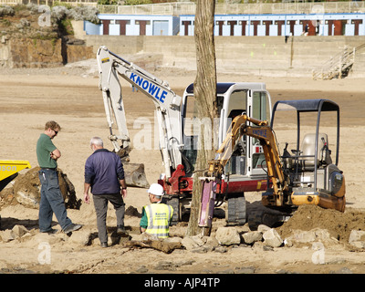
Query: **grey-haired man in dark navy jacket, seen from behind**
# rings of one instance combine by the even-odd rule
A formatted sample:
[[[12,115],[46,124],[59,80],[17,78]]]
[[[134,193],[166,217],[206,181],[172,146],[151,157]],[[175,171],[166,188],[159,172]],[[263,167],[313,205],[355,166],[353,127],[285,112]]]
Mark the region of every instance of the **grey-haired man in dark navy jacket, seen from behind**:
[[[101,247],[108,247],[107,211],[112,203],[117,216],[117,232],[124,232],[125,203],[127,185],[120,157],[103,148],[103,141],[93,137],[90,141],[93,153],[85,163],[84,200],[89,203],[89,189],[93,194]]]

